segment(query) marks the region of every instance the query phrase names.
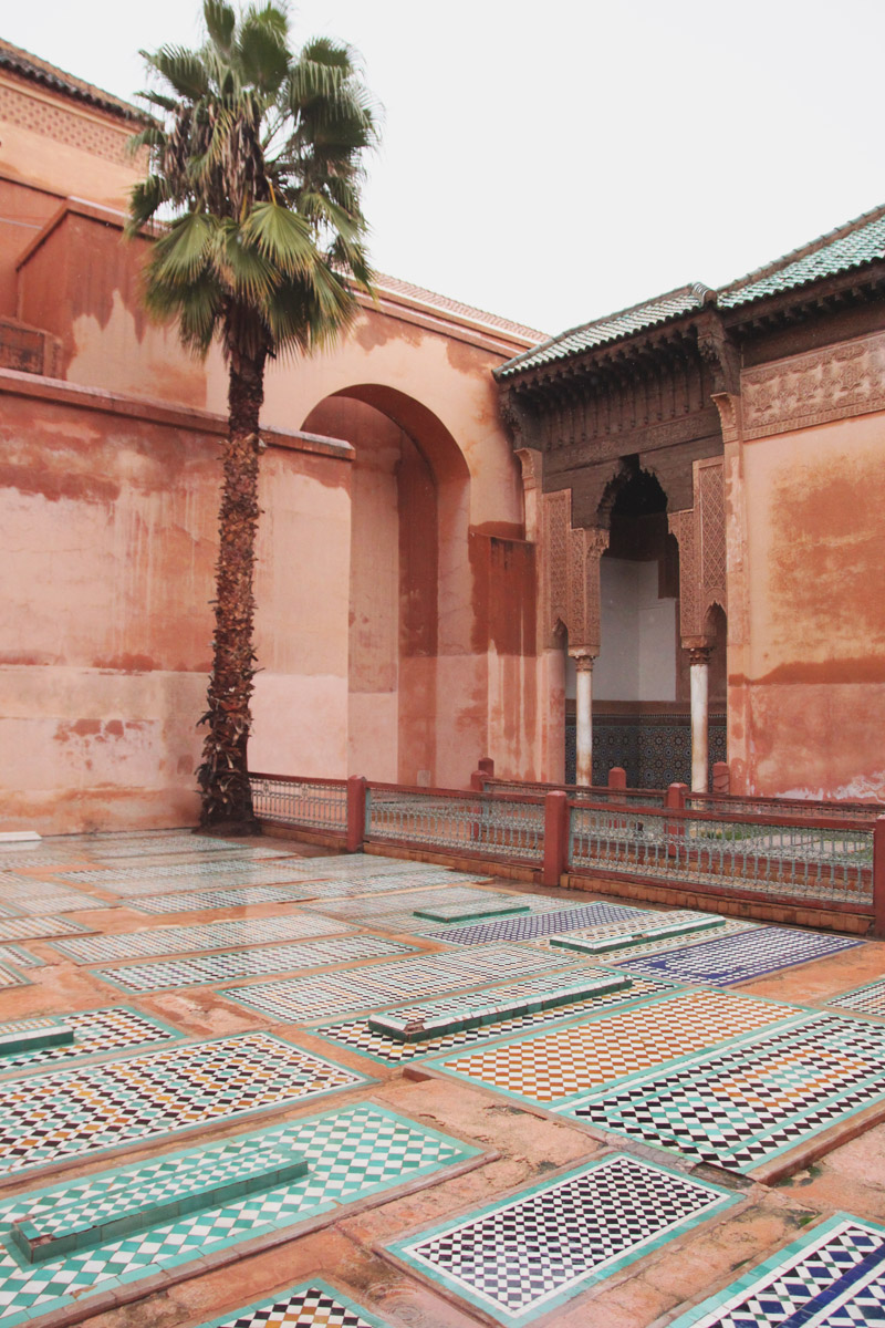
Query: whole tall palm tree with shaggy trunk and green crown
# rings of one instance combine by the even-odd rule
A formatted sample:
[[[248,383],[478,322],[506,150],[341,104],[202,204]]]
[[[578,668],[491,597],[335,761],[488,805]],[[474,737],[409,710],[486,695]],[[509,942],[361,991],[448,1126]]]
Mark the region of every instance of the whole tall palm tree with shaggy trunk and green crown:
[[[354,53],[326,39],[289,49],[285,0],[239,16],[206,0],[199,50],[142,52],[159,88],[127,231],[153,239],[143,300],[228,365],[228,437],[219,517],[215,640],[200,823],[255,825],[247,766],[255,677],[252,594],[259,412],[268,360],[310,355],[352,323],[370,291],[360,205],[377,117]],[[147,227],[147,223],[153,226]],[[146,231],[147,227],[147,231]]]

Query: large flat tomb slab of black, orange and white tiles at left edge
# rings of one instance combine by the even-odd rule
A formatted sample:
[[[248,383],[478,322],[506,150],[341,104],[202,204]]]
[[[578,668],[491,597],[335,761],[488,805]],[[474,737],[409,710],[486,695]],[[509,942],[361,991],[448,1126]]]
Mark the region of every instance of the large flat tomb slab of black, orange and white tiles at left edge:
[[[365,1084],[269,1033],[0,1082],[0,1174]]]

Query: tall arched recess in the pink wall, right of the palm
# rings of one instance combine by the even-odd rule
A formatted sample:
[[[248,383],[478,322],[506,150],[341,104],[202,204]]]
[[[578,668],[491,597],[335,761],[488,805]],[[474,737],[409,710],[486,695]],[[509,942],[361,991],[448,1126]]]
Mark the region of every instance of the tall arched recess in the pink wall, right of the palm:
[[[466,753],[448,750],[451,734],[464,733],[460,703],[472,700],[479,748],[486,718],[476,714],[484,687],[478,697],[470,677],[475,594],[464,456],[433,410],[379,384],[332,393],[301,428],[354,448],[348,768],[402,784],[463,784]]]

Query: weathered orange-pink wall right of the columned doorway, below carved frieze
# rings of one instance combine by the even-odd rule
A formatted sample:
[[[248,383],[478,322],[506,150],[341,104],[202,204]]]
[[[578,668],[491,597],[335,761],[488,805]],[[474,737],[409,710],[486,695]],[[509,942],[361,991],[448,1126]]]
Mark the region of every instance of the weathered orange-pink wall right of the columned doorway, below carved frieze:
[[[885,799],[884,444],[865,414],[726,449],[738,790]]]

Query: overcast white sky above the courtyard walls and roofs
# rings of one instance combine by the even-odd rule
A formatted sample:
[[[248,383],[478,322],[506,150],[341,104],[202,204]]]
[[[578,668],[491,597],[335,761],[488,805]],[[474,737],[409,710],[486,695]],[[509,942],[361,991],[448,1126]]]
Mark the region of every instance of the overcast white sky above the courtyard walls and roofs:
[[[0,4],[130,98],[199,0]],[[885,202],[882,0],[301,0],[385,106],[378,270],[544,332],[722,284]]]

